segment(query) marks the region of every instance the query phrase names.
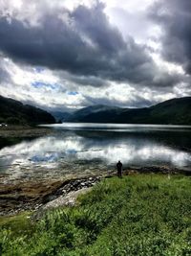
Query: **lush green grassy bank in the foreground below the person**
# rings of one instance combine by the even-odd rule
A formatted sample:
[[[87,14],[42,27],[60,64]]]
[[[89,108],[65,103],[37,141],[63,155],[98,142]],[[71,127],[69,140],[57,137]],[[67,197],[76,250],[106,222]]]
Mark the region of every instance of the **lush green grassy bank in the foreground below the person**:
[[[191,178],[105,179],[72,208],[0,219],[2,255],[191,255]]]

